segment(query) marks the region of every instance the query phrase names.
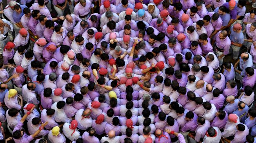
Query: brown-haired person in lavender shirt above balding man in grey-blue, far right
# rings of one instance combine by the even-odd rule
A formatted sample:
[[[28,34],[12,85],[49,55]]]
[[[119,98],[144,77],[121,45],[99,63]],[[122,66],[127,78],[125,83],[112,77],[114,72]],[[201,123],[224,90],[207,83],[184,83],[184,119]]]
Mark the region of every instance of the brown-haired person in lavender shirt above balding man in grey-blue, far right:
[[[238,89],[236,87],[236,81],[235,80],[228,80],[226,84],[226,88],[223,90],[222,94],[226,98],[229,95],[233,95],[234,97],[237,96]]]

